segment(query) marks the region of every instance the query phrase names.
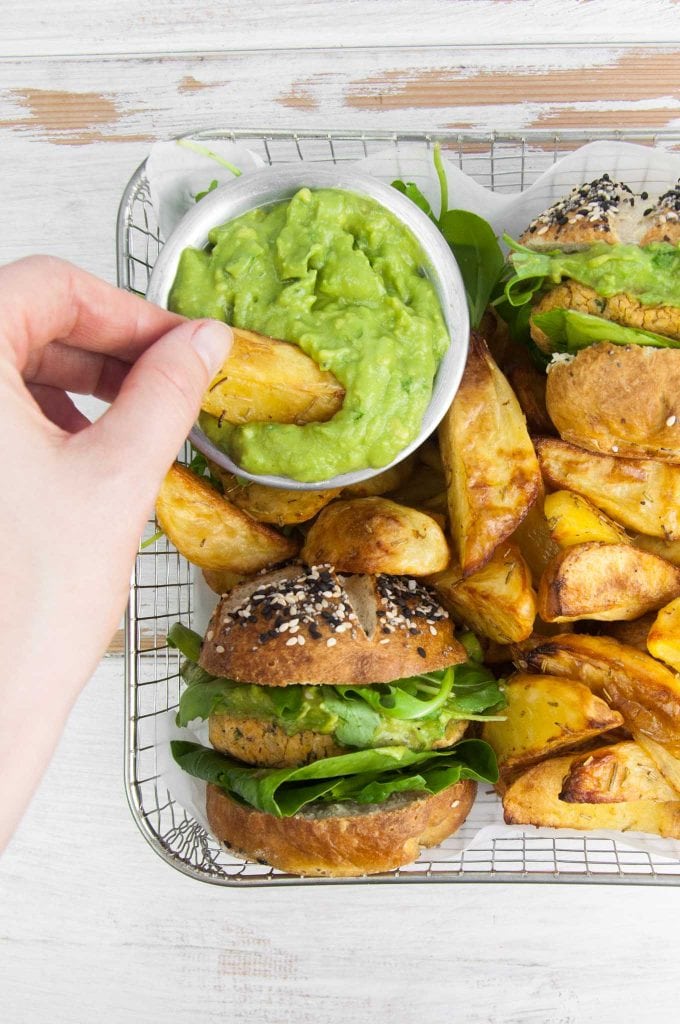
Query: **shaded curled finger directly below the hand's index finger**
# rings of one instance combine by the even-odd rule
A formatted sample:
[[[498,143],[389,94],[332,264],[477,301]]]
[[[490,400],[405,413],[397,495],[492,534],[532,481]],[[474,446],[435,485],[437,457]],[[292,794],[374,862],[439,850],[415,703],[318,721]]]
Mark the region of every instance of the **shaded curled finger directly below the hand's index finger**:
[[[29,355],[24,369],[27,384],[42,384],[92,394],[103,401],[113,401],[130,370],[130,364],[114,355],[71,348],[62,341],[52,341]]]

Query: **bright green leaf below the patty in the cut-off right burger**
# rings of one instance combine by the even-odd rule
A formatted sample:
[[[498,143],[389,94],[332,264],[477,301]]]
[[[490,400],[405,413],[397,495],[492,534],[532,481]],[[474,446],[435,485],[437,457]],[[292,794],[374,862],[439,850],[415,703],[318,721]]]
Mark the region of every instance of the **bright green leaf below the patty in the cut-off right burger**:
[[[555,352],[578,352],[599,341],[609,341],[613,345],[680,348],[680,341],[675,338],[640,328],[624,327],[577,309],[550,309],[545,313],[535,313],[532,319],[548,336]]]

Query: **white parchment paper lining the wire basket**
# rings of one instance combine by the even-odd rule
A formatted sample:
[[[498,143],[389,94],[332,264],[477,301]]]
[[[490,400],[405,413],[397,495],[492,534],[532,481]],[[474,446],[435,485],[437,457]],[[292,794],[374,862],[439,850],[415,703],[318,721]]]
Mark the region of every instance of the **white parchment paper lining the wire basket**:
[[[205,190],[213,179],[219,185],[232,179],[232,172],[219,160],[248,174],[264,166],[262,159],[247,146],[226,141],[194,140],[197,148],[177,141],[158,142],[146,162],[146,177],[152,202],[158,217],[161,236],[166,239],[192,209],[196,195]],[[190,145],[190,142],[189,142]],[[204,152],[200,152],[203,150]],[[207,152],[206,152],[207,151]],[[211,157],[209,154],[212,154]],[[215,160],[217,157],[219,160]],[[329,166],[331,162],[329,161]],[[439,186],[431,153],[420,143],[400,144],[376,153],[355,163],[357,170],[372,174],[384,182],[394,178],[414,181],[438,210]],[[527,223],[546,207],[564,196],[575,185],[599,177],[604,172],[626,182],[634,191],[646,190],[650,201],[674,185],[680,178],[680,156],[663,150],[634,145],[628,142],[598,141],[584,145],[555,163],[523,193],[499,194],[478,184],[472,177],[447,161],[451,209],[471,210],[484,217],[499,236],[508,232],[517,237]],[[194,629],[205,632],[215,595],[205,585],[200,572],[194,582]],[[207,743],[207,726],[179,729],[174,713],[159,720],[157,731],[159,772],[173,797],[210,831],[205,814],[205,784],[181,771],[170,756],[171,739],[189,739]],[[584,834],[571,829],[511,827],[503,823],[500,801],[478,801],[461,831],[444,844],[447,856],[463,849],[486,848],[495,839],[521,837],[547,839],[583,839]],[[619,846],[640,850],[653,857],[680,859],[680,841],[664,840],[637,833],[589,831],[589,839],[614,840]],[[434,856],[434,855],[433,855]],[[436,859],[436,857],[435,857]]]

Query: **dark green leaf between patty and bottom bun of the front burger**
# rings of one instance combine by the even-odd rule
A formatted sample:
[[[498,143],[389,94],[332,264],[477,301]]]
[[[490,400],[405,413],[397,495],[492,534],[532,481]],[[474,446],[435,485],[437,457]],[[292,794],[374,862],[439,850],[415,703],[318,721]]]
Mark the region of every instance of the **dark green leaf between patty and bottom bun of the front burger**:
[[[317,801],[383,803],[393,793],[435,794],[466,778],[498,781],[496,756],[481,739],[463,739],[450,751],[414,753],[405,746],[356,751],[298,768],[251,768],[183,740],[173,740],[171,750],[190,775],[277,817],[290,817]]]

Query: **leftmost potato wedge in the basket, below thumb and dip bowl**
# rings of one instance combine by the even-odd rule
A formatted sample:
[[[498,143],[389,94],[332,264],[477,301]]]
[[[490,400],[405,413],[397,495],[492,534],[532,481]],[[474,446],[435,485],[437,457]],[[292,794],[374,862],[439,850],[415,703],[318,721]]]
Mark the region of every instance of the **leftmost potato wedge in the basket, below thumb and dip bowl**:
[[[156,517],[177,551],[202,569],[248,574],[283,562],[298,550],[295,541],[251,519],[179,463],[161,484]]]

